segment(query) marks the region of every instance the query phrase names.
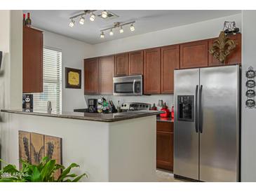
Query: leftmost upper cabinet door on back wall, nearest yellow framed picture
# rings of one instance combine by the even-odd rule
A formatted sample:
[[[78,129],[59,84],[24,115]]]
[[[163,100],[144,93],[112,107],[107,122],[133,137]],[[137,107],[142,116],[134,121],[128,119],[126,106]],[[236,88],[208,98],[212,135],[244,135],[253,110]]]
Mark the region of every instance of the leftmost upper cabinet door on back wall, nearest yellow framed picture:
[[[100,93],[100,64],[99,58],[84,60],[84,94]]]

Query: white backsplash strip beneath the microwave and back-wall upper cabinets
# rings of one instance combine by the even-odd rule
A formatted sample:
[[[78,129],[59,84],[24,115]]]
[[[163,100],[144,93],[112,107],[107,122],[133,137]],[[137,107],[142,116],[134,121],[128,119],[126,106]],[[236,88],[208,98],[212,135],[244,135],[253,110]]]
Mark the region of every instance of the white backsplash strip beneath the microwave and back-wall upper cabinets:
[[[114,95],[102,95],[105,97],[107,101],[112,100],[114,102],[114,105],[116,106],[118,101],[121,102],[144,102],[149,103],[151,106],[155,103],[156,107],[159,100],[163,100],[163,102],[166,102],[167,106],[171,108],[174,104],[174,96],[173,95],[142,95],[142,96],[114,96]],[[88,99],[99,99],[100,95],[84,95],[84,98],[86,100],[86,104],[88,102]],[[87,107],[86,107],[87,108]],[[158,109],[161,109],[161,107],[158,107]]]

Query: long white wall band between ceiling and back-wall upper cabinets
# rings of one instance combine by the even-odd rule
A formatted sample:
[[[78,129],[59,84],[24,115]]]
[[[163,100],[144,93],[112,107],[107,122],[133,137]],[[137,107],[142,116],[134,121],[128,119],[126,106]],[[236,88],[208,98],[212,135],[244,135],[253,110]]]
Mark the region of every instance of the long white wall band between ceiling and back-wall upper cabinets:
[[[130,50],[140,50],[144,48],[213,38],[220,34],[224,21],[235,21],[236,26],[241,29],[241,14],[236,14],[224,18],[206,20],[190,25],[183,25],[156,32],[149,32],[147,34],[130,36],[124,39],[98,43],[94,45],[92,56],[109,55]]]

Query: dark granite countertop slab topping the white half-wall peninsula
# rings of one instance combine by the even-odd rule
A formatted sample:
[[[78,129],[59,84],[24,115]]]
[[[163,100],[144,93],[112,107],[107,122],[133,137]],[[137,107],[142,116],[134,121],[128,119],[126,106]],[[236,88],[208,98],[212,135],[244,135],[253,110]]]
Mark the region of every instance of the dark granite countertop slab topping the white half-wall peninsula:
[[[83,112],[65,112],[62,111],[60,114],[47,113],[47,111],[23,111],[22,109],[1,109],[1,112],[11,113],[11,114],[25,114],[34,116],[50,116],[55,118],[72,118],[87,121],[102,121],[102,122],[114,122],[123,121],[132,118],[140,118],[144,116],[155,116],[162,114],[163,111],[129,111],[116,114],[92,114]]]

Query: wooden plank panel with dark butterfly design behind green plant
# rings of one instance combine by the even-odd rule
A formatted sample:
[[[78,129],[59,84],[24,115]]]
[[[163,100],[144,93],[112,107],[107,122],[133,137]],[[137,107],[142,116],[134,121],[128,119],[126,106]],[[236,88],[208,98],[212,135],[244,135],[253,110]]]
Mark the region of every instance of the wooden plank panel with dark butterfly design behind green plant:
[[[19,158],[38,165],[44,156],[62,164],[62,139],[34,132],[19,131]],[[22,164],[20,163],[20,169]],[[58,177],[60,172],[55,174]]]

